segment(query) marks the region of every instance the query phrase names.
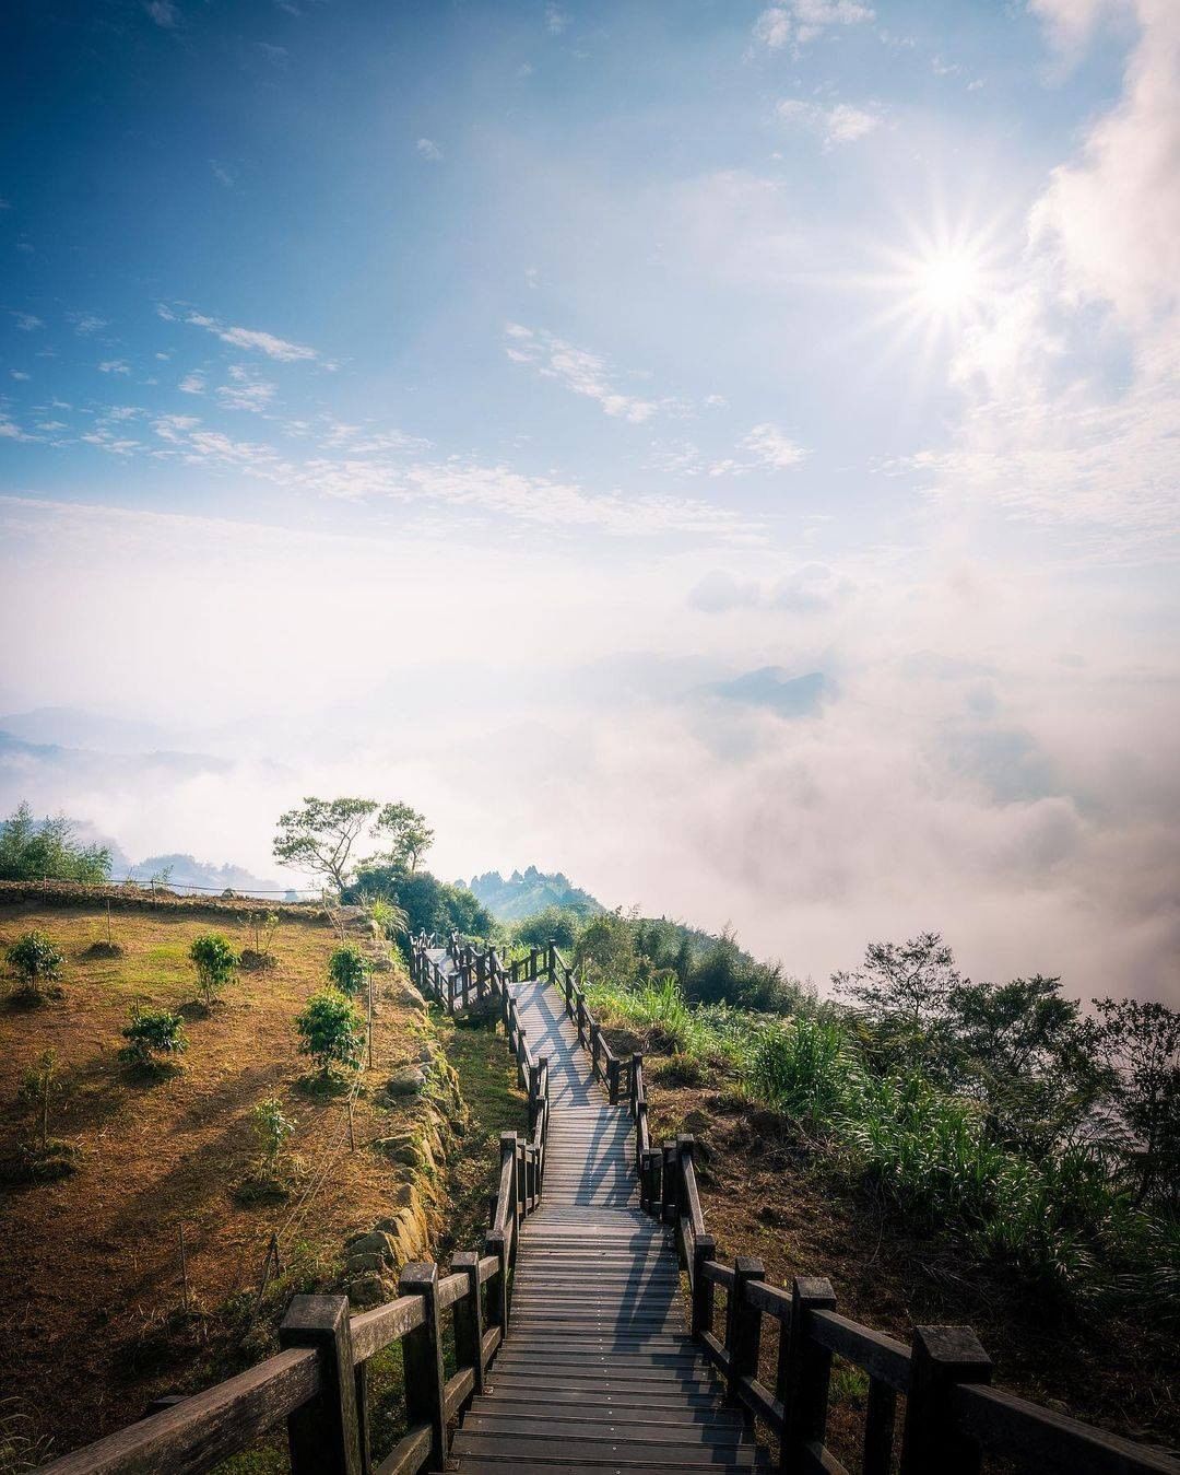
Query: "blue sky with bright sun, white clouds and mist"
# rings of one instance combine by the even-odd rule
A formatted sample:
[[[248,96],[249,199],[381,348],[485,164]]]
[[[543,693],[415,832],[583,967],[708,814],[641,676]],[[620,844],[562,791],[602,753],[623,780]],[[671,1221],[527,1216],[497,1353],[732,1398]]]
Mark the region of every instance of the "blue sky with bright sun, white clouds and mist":
[[[0,21],[0,805],[1180,1002],[1176,0]]]

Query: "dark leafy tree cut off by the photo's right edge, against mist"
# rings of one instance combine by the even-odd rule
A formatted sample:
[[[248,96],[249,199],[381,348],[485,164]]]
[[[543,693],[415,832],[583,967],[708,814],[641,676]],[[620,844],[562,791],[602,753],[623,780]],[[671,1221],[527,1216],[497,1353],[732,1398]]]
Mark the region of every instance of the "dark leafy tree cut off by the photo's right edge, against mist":
[[[1095,999],[1093,1041],[1127,1130],[1134,1201],[1180,1199],[1180,1010]]]

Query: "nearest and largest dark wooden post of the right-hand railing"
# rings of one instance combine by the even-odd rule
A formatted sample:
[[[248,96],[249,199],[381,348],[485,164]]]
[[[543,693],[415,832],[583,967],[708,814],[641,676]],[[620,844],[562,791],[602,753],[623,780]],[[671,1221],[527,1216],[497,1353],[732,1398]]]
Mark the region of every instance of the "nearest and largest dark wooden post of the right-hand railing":
[[[910,1347],[902,1475],[978,1475],[980,1448],[959,1431],[956,1384],[991,1382],[991,1358],[969,1326],[915,1326]]]

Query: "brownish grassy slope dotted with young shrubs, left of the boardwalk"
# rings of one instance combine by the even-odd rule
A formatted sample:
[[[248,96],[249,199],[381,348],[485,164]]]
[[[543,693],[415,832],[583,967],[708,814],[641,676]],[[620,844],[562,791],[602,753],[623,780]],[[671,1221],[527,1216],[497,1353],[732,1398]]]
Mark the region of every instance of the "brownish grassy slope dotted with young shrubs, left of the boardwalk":
[[[345,1239],[387,1212],[396,1170],[367,1143],[392,1130],[398,1106],[379,1089],[417,1055],[426,1016],[401,993],[398,974],[374,976],[374,1066],[355,1105],[352,1152],[346,1103],[306,1089],[309,1062],[295,1030],[337,941],[324,919],[286,916],[270,943],[274,966],[236,975],[212,1009],[197,1003],[189,947],[214,929],[236,950],[252,945],[245,916],[115,912],[122,956],[96,957],[105,909],[0,907],[0,950],[31,929],[46,932],[66,963],[59,997],[37,1006],[12,991],[0,999],[0,1158],[37,1130],[21,1089],[52,1050],[49,1131],[75,1150],[77,1171],[0,1187],[0,1382],[15,1400],[1,1412],[28,1416],[18,1426],[34,1447],[53,1435],[60,1453],[138,1417],[153,1395],[208,1381],[230,1356],[220,1341],[227,1307],[236,1345],[250,1351],[247,1311],[273,1230],[283,1230],[281,1299],[330,1283]],[[121,1030],[136,1004],[184,1015],[181,1069],[143,1078],[121,1062]],[[287,1196],[243,1202],[258,1155],[252,1114],[264,1099],[295,1121]]]

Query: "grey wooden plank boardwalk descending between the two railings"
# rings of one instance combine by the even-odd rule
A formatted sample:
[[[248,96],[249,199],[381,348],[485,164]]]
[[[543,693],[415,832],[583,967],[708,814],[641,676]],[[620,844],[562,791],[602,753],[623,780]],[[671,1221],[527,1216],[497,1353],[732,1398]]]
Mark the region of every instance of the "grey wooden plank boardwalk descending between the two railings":
[[[508,1335],[452,1446],[463,1475],[760,1469],[685,1329],[672,1236],[639,1208],[635,1133],[547,981],[514,985],[549,1061],[545,1192],[521,1226]]]

